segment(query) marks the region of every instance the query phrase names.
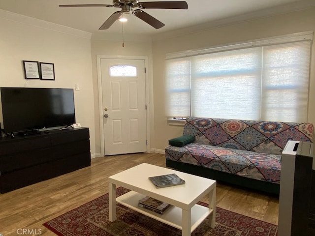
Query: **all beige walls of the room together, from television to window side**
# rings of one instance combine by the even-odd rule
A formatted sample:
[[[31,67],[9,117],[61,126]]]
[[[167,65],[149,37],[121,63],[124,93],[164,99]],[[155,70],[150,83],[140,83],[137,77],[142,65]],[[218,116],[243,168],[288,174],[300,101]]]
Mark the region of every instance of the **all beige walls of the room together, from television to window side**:
[[[0,12],[1,14],[1,12]],[[163,151],[170,138],[181,135],[182,126],[167,124],[165,116],[164,59],[166,53],[212,47],[301,31],[315,31],[315,8],[240,24],[164,38],[159,41],[90,39],[86,32],[59,30],[0,17],[0,87],[74,88],[77,122],[90,127],[91,153],[100,153],[101,114],[98,107],[96,56],[145,56],[149,58],[151,148]],[[32,20],[33,23],[33,20]],[[46,24],[46,23],[45,23]],[[78,36],[79,35],[79,36]],[[81,36],[83,35],[83,36]],[[153,38],[154,39],[154,38]],[[56,81],[25,80],[22,60],[55,63]],[[154,69],[153,69],[154,68]],[[315,100],[315,47],[312,50],[310,101]],[[154,101],[154,103],[153,103]],[[315,104],[309,104],[308,121],[315,123]],[[1,116],[0,116],[1,117]],[[1,120],[0,120],[1,122]]]

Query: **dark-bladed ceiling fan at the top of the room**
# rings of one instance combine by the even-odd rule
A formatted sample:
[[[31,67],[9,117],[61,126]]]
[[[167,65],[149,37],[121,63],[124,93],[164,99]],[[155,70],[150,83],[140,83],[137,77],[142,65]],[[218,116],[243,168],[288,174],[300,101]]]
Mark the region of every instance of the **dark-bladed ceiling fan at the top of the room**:
[[[60,7],[85,7],[85,6],[103,6],[103,7],[119,7],[120,11],[114,12],[99,29],[109,29],[116,20],[118,20],[123,13],[138,17],[144,22],[148,23],[152,27],[159,29],[165,26],[158,19],[149,15],[141,9],[158,8],[158,9],[188,9],[186,1],[143,1],[138,0],[113,0],[112,5],[108,4],[71,4],[71,5],[59,5]],[[133,9],[135,7],[141,9]]]

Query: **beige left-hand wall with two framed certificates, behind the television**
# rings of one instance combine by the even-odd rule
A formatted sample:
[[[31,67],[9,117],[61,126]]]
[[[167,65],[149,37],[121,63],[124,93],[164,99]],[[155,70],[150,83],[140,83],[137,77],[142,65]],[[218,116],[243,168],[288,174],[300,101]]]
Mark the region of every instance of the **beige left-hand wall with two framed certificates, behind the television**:
[[[1,13],[0,87],[74,89],[75,84],[78,84],[80,90],[74,91],[76,121],[90,128],[91,154],[95,155],[91,40],[45,27],[6,20],[1,17]],[[54,63],[56,80],[25,80],[22,60]]]

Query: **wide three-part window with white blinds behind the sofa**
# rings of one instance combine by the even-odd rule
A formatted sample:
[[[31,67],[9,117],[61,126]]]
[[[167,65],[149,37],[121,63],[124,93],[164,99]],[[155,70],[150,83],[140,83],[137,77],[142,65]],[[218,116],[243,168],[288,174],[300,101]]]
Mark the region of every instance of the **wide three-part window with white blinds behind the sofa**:
[[[166,60],[167,116],[307,119],[311,40]]]

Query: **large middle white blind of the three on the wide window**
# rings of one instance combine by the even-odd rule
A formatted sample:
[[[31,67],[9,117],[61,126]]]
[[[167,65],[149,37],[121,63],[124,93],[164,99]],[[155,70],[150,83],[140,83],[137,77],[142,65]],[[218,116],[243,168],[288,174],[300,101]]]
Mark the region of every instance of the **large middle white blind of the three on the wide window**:
[[[191,58],[191,115],[258,118],[261,97],[259,48]]]

